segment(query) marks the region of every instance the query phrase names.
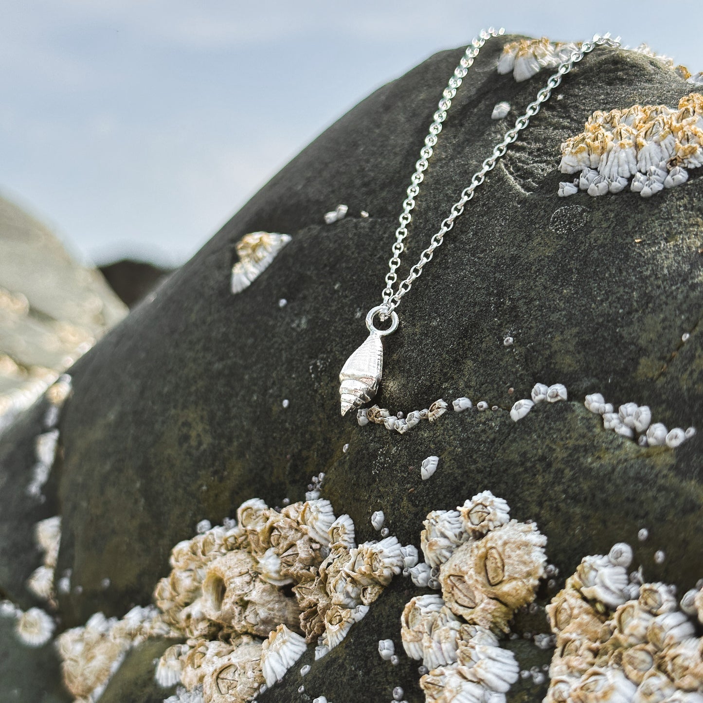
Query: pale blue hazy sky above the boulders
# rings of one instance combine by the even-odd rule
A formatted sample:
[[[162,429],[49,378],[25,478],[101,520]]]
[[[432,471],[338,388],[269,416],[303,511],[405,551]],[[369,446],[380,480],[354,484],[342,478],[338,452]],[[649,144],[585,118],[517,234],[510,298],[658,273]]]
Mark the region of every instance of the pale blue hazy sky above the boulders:
[[[81,259],[177,266],[368,93],[490,25],[703,70],[700,0],[2,0],[0,194]]]

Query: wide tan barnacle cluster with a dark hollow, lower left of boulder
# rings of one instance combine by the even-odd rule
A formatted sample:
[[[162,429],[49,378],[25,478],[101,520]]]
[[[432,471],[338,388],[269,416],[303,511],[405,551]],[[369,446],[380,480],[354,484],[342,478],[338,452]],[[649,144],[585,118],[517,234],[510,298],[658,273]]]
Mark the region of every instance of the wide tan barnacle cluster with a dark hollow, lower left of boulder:
[[[336,518],[329,501],[280,512],[246,501],[237,520],[172,551],[155,601],[186,641],[163,654],[157,680],[195,695],[202,689],[205,703],[250,700],[280,680],[307,643],[317,644],[316,658],[337,646],[407,557],[395,537],[356,546],[354,522]]]

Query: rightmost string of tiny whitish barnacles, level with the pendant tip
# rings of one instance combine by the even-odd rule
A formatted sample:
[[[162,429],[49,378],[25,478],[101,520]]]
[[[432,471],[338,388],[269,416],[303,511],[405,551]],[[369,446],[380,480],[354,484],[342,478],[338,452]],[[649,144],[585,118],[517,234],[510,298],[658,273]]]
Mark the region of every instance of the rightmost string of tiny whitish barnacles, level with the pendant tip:
[[[652,411],[649,406],[636,403],[625,403],[619,406],[617,413],[610,403],[600,393],[586,396],[583,404],[592,413],[602,415],[603,427],[629,439],[636,439],[640,446],[669,446],[672,449],[693,437],[695,427],[683,430],[674,427],[667,430],[662,423],[652,423]]]

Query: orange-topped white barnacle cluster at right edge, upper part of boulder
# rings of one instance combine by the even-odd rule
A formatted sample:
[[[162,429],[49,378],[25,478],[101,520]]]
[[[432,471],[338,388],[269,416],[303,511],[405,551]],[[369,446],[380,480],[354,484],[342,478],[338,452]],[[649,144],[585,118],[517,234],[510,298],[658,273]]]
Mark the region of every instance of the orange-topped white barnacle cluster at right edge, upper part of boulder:
[[[686,169],[703,166],[703,96],[690,93],[678,108],[633,105],[624,110],[596,110],[581,132],[562,143],[562,173],[573,182],[559,185],[559,195],[579,189],[588,195],[620,193],[628,186],[643,198],[688,180]]]

